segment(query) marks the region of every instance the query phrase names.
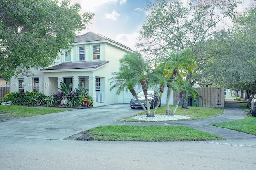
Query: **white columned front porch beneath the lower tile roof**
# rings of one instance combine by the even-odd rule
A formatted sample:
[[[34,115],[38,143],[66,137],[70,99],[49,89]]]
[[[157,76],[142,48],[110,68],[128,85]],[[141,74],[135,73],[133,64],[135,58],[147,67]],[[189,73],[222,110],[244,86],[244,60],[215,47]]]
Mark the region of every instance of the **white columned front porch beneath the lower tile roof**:
[[[43,93],[45,95],[58,93],[61,82],[66,83],[69,91],[75,91],[78,85],[85,85],[94,100],[94,107],[105,105],[106,77],[98,75],[95,68],[56,69],[55,67],[54,69],[54,67],[41,69],[44,75]],[[97,67],[97,70],[100,68],[102,67]],[[73,83],[73,87],[69,88],[70,83]]]

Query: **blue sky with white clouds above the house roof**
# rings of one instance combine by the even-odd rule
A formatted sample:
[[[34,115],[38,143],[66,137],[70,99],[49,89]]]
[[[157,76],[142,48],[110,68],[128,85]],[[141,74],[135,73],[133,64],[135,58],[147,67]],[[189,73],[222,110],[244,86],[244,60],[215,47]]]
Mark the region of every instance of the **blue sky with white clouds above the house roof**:
[[[138,31],[142,28],[150,12],[145,10],[148,1],[152,0],[72,0],[79,3],[82,12],[90,11],[95,14],[92,24],[86,30],[102,34],[112,40],[126,45],[134,50]],[[182,0],[185,2],[186,0]],[[250,4],[250,0],[244,0]],[[242,10],[240,6],[239,10]]]

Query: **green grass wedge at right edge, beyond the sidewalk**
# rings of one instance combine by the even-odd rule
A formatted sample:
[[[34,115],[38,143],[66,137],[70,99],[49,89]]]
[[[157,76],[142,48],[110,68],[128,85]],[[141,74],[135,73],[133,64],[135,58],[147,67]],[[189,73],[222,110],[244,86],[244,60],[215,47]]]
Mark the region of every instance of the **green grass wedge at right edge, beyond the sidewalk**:
[[[252,115],[247,115],[247,117],[240,120],[212,123],[210,125],[256,135],[256,117],[252,117]]]

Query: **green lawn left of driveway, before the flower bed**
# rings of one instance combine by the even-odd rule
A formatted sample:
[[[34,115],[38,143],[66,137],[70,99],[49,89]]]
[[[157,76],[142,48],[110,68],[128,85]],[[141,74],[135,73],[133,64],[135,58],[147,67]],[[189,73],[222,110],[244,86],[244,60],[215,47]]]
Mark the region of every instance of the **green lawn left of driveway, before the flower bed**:
[[[10,117],[30,117],[30,116],[36,116],[36,115],[45,115],[49,113],[63,112],[63,111],[71,111],[71,109],[0,105],[0,116],[10,116]]]

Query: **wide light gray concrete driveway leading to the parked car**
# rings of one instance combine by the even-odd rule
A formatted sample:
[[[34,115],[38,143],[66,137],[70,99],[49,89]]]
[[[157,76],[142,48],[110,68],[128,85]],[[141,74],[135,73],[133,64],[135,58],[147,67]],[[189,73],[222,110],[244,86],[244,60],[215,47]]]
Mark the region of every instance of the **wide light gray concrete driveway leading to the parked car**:
[[[81,131],[142,112],[115,104],[25,118],[1,117],[1,136],[62,140]]]

